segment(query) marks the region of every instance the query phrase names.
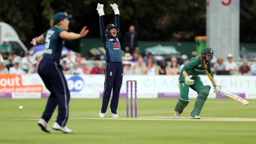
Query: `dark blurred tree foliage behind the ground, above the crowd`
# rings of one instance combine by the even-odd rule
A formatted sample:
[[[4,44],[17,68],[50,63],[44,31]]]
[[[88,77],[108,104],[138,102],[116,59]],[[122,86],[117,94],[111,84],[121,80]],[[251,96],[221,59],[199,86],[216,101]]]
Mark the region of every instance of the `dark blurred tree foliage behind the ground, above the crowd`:
[[[255,13],[255,0],[245,2]],[[78,33],[87,25],[88,37],[99,38],[97,3],[104,4],[105,25],[114,23],[109,4],[119,5],[122,39],[131,24],[135,25],[140,40],[194,41],[195,36],[206,35],[205,0],[1,0],[0,21],[10,24],[28,46],[33,37],[50,28],[49,21],[55,13],[65,11],[73,14],[70,31]],[[241,18],[242,25],[254,23],[252,16]],[[243,33],[244,27],[240,29],[241,41],[253,40]],[[245,29],[248,31],[248,27]]]

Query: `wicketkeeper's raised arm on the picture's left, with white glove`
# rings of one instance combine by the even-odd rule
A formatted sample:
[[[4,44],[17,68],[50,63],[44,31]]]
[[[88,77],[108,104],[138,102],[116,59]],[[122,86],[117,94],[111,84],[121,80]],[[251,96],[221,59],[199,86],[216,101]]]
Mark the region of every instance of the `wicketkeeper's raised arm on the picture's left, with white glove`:
[[[103,7],[104,5],[103,4],[100,4],[98,3],[97,5],[97,11],[99,13],[99,22],[100,22],[100,38],[101,38],[101,41],[103,43],[103,45],[106,43],[106,38],[105,38],[105,27],[104,27],[104,21],[103,21],[103,16],[105,15],[104,14],[104,11],[103,11]]]

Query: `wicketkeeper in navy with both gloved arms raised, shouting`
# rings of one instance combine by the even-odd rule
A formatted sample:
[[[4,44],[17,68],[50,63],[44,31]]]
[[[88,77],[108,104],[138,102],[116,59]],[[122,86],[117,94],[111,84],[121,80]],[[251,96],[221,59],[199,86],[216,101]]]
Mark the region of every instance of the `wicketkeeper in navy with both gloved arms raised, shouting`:
[[[117,106],[119,101],[119,93],[123,81],[123,64],[122,64],[122,52],[121,45],[119,42],[120,39],[120,24],[119,24],[119,10],[118,5],[110,4],[112,9],[115,12],[115,25],[109,24],[104,27],[103,22],[103,4],[97,6],[98,13],[100,15],[100,37],[104,49],[106,50],[106,64],[105,64],[105,82],[104,82],[104,91],[102,95],[102,106],[99,116],[104,118],[107,111],[111,91],[113,88],[113,95],[111,99],[109,112],[112,114],[113,118],[118,118],[117,115]]]

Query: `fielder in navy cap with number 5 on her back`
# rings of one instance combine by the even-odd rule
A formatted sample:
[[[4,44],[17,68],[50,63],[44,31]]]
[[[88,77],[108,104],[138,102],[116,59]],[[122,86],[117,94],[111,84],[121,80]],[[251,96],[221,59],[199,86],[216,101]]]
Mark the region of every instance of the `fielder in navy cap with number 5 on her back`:
[[[67,32],[70,22],[68,19],[70,18],[72,18],[72,15],[68,15],[66,12],[56,13],[50,22],[51,28],[39,37],[33,38],[30,42],[33,45],[44,43],[44,54],[38,64],[38,74],[51,94],[47,101],[45,111],[38,121],[38,125],[43,131],[48,133],[51,131],[47,123],[57,105],[58,116],[52,128],[64,133],[73,133],[73,131],[66,126],[70,92],[59,62],[62,47],[65,43],[64,39],[74,40],[82,38],[87,35],[89,30],[86,30],[87,27],[85,26],[80,34]]]

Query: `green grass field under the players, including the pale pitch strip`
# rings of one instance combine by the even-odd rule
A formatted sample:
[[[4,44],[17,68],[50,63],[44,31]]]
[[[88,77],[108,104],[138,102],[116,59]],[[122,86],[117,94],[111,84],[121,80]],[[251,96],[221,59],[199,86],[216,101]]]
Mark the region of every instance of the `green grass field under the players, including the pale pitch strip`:
[[[256,100],[207,99],[200,120],[188,119],[195,99],[175,120],[177,99],[138,99],[138,118],[126,118],[125,98],[118,115],[99,118],[101,99],[71,99],[67,126],[73,134],[45,133],[37,125],[47,99],[0,99],[0,144],[238,144],[256,141]],[[23,110],[19,110],[19,106]],[[50,127],[54,123],[49,121]],[[219,119],[215,119],[219,117]],[[244,118],[244,119],[239,119]],[[153,120],[152,120],[153,119]]]

